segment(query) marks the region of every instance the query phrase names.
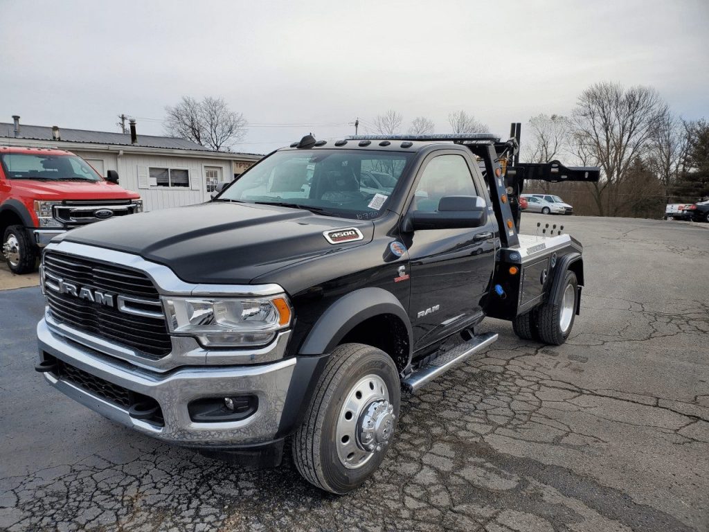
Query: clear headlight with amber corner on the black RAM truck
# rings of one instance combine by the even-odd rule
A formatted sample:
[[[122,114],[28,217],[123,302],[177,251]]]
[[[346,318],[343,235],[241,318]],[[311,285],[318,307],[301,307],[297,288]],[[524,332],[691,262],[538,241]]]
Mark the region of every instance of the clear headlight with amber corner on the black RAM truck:
[[[269,343],[291,324],[284,296],[255,298],[164,297],[171,333],[199,338],[203,345],[239,347]]]

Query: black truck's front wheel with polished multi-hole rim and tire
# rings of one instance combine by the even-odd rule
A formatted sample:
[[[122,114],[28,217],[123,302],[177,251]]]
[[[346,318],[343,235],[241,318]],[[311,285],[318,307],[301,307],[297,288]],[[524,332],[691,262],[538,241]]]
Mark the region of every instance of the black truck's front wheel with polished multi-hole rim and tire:
[[[369,345],[337,346],[293,441],[298,472],[335,494],[359,487],[396,431],[401,384],[391,357]]]

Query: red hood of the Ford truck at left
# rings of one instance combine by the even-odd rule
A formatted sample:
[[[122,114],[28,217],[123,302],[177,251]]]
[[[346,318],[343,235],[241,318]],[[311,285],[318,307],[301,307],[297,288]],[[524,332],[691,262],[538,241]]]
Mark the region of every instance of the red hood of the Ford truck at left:
[[[139,194],[106,181],[37,181],[13,179],[12,188],[37,199],[138,199]]]

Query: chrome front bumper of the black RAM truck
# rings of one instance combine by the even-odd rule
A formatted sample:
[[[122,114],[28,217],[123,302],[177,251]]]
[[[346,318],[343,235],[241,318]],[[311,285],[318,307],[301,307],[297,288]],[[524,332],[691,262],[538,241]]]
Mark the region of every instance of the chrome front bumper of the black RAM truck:
[[[164,426],[134,419],[121,406],[45,373],[52,386],[108,419],[179,445],[238,447],[273,440],[296,366],[296,358],[289,358],[265,365],[186,367],[164,375],[84,348],[50,331],[44,319],[37,325],[37,336],[40,358],[47,353],[95,377],[155,399],[162,409]],[[247,419],[223,423],[196,423],[190,419],[190,401],[233,394],[256,395],[255,413]]]

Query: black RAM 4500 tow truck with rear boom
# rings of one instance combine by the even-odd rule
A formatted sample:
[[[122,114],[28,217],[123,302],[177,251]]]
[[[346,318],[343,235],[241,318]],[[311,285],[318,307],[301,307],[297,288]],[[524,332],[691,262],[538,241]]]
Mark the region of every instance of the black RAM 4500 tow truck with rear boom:
[[[570,235],[520,235],[525,179],[489,135],[306,135],[206,204],[108,220],[43,253],[48,383],[108,419],[221,457],[280,460],[342,494],[393,441],[401,389],[496,339],[559,345],[584,263]],[[454,348],[452,338],[460,337]]]

